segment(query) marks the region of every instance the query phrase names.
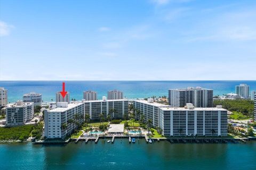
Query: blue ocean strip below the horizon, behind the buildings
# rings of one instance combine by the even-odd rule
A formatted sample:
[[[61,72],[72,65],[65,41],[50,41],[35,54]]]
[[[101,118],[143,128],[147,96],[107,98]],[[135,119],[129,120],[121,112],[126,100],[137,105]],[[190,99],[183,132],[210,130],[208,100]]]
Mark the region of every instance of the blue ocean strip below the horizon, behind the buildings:
[[[235,92],[235,86],[247,83],[251,90],[256,90],[256,81],[66,81],[66,90],[70,98],[81,100],[83,91],[95,90],[98,98],[107,96],[112,89],[122,90],[127,98],[146,98],[151,96],[167,96],[172,88],[201,86],[214,90],[214,95]],[[42,94],[44,101],[55,100],[55,92],[61,91],[61,81],[0,81],[0,87],[9,90],[9,102],[22,99],[22,95],[31,91]]]

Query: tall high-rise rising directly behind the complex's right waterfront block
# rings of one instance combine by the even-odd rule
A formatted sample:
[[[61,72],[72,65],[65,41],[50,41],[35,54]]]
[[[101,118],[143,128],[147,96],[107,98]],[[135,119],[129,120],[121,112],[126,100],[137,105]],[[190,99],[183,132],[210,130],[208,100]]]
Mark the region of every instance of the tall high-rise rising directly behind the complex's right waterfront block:
[[[195,107],[213,107],[213,90],[201,87],[170,89],[168,99],[171,107],[184,107],[187,103],[191,103]]]

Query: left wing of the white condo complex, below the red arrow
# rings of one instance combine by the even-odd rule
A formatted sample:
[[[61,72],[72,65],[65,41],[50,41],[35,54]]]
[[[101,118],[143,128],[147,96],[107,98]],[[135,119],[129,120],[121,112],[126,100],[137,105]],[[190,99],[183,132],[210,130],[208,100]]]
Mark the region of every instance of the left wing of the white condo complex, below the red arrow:
[[[44,113],[44,135],[48,139],[65,139],[84,122],[84,103],[57,103],[57,108]]]

